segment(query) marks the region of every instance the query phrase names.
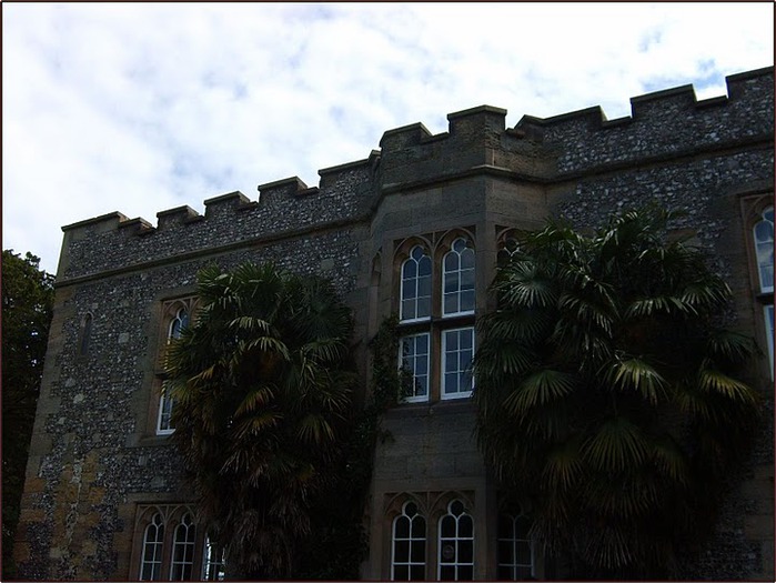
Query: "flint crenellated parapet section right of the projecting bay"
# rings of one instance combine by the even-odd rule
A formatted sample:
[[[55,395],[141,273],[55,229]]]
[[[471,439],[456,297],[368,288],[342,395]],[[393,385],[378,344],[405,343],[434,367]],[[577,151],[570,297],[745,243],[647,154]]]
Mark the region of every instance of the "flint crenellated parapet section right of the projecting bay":
[[[525,115],[515,129],[556,153],[558,177],[757,141],[767,148],[774,134],[774,68],[728,76],[726,83],[727,96],[701,101],[693,86],[634,97],[628,118],[607,120],[595,107],[547,119]]]

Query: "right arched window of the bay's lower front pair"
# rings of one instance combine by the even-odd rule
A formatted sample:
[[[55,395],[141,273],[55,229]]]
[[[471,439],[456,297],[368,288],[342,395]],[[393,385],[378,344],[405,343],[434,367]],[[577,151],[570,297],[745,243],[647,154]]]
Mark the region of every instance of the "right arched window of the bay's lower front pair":
[[[474,579],[474,522],[463,502],[453,500],[440,519],[440,581]]]

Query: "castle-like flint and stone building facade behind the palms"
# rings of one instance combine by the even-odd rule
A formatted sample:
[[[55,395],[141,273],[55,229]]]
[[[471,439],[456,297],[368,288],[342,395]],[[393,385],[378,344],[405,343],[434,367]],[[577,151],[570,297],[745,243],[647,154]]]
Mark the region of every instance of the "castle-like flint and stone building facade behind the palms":
[[[160,354],[185,325],[200,268],[273,260],[335,282],[354,313],[364,386],[366,344],[391,313],[421,380],[383,420],[393,439],[375,452],[363,577],[562,576],[525,540],[521,509],[501,507],[473,442],[473,326],[492,308],[487,285],[513,230],[547,217],[599,224],[655,200],[688,211],[675,227],[695,233],[734,290],[732,325],[765,354],[749,381],[770,396],[773,68],[726,81],[726,97],[704,101],[691,86],[633,98],[632,115],[611,121],[589,108],[505,128],[505,110],[483,105],[449,114],[437,135],[420,123],[386,131],[365,160],[321,170],[318,187],[271,182],[258,201],[232,192],[206,200],[203,215],[160,212],[155,227],[118,212],[64,227],[20,574],[218,573],[169,444]],[[688,577],[773,580],[770,424],[743,478]]]

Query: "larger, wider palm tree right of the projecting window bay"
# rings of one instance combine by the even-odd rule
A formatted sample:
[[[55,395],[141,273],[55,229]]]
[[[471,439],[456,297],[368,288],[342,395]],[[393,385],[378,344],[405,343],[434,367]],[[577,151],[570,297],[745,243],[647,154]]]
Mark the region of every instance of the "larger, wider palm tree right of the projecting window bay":
[[[649,207],[585,237],[525,233],[474,359],[478,444],[573,576],[669,576],[744,451],[757,350],[720,328],[730,291]]]

